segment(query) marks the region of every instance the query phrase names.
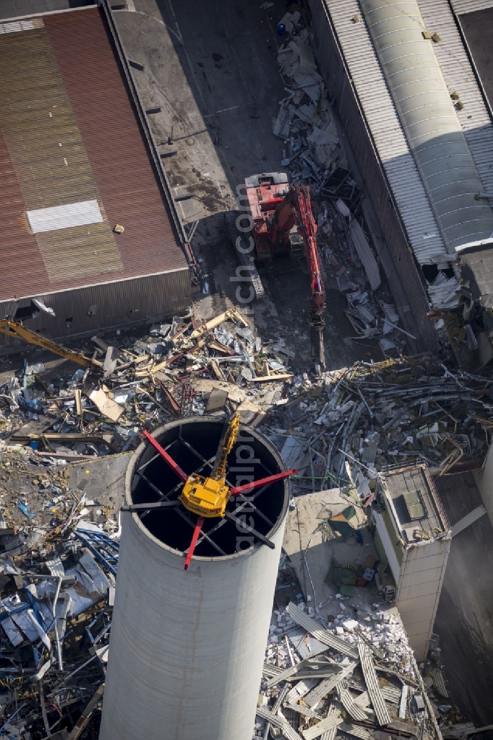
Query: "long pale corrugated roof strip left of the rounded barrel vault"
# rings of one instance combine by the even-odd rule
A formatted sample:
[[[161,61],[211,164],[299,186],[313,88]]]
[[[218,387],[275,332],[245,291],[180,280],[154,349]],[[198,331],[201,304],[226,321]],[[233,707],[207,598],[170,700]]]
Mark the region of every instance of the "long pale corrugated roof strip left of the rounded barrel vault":
[[[441,238],[366,24],[352,21],[360,14],[358,1],[324,1],[417,261],[447,264],[452,256]]]

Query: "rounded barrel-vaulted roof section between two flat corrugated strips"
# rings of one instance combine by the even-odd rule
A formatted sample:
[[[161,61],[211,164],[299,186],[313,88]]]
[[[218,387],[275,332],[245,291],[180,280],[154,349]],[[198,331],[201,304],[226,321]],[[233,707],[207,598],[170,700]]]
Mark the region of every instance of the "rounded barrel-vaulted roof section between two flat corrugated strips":
[[[443,10],[441,4],[422,0],[429,28],[440,37],[434,11]],[[435,55],[441,48],[450,63],[449,44],[423,38],[427,28],[417,0],[361,0],[361,7],[441,235],[455,255],[456,246],[493,232],[493,212],[487,201],[474,199],[481,181]]]

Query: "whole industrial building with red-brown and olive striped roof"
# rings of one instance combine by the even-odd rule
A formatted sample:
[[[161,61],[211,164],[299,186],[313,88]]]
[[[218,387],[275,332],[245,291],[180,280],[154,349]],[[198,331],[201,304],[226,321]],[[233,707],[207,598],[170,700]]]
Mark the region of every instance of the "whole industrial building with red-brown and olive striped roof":
[[[107,4],[0,31],[0,314],[63,337],[185,309],[183,227]]]

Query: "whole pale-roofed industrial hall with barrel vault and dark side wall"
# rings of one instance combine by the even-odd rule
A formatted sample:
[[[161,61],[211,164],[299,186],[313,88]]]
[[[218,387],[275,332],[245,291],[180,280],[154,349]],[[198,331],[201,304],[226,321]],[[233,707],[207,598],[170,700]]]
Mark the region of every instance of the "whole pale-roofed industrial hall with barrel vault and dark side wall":
[[[474,198],[493,189],[491,107],[457,21],[493,3],[306,4],[321,74],[403,286],[400,318],[406,325],[412,312],[422,348],[436,351],[429,312],[461,300],[456,249],[493,232],[488,199]]]

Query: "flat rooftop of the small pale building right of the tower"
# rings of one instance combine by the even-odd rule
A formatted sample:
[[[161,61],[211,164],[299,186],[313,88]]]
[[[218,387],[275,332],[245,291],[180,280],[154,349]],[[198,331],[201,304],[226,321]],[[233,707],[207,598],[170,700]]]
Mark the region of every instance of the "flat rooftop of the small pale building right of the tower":
[[[449,530],[449,523],[438,499],[435,483],[426,465],[389,470],[381,479],[383,494],[397,519],[405,542],[421,542]]]

